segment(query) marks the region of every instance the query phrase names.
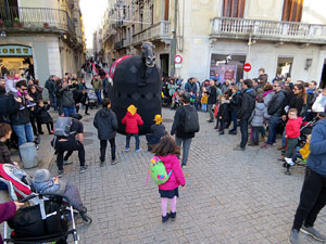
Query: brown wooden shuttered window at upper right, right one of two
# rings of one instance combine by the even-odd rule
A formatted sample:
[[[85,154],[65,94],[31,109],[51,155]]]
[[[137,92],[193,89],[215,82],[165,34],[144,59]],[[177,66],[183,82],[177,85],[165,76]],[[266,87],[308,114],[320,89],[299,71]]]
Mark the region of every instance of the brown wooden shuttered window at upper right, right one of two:
[[[284,22],[301,22],[303,0],[285,0],[283,8]]]

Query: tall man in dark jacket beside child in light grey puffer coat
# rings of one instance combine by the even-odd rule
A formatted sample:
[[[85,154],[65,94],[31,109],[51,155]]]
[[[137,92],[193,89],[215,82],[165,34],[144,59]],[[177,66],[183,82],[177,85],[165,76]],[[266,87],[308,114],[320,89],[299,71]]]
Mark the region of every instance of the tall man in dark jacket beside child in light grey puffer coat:
[[[242,91],[241,105],[238,110],[237,117],[240,119],[240,131],[241,131],[241,142],[234,150],[244,151],[248,142],[248,124],[252,111],[255,106],[255,91],[252,89],[252,80],[243,80],[243,91]]]

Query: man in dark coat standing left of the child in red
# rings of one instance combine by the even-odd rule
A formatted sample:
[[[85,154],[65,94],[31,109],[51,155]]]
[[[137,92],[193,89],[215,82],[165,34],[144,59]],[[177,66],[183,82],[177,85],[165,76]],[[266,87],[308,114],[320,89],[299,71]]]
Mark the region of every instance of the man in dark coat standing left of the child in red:
[[[111,165],[115,165],[118,160],[115,158],[115,136],[117,130],[117,120],[114,112],[111,110],[111,100],[105,98],[102,100],[103,108],[96,113],[93,126],[98,129],[98,138],[100,140],[101,164],[105,163],[105,151],[108,141],[111,145]]]

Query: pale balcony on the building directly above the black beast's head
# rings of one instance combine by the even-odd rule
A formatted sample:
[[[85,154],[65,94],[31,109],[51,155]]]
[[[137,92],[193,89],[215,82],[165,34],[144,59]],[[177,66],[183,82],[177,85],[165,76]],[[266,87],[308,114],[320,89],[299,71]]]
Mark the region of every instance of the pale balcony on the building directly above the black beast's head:
[[[170,22],[162,21],[155,25],[150,26],[137,33],[133,36],[133,44],[138,44],[143,41],[153,41],[153,40],[170,40],[171,33],[170,33]]]

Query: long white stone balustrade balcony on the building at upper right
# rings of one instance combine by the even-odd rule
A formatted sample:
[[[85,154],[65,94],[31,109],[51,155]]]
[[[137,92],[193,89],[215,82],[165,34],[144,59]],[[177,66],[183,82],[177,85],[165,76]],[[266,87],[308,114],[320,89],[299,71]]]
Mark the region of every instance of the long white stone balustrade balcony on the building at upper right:
[[[211,38],[248,39],[326,44],[326,25],[235,17],[212,20]]]

